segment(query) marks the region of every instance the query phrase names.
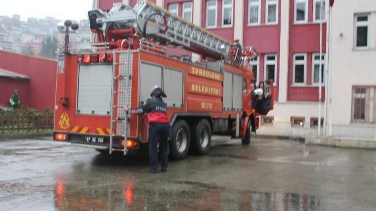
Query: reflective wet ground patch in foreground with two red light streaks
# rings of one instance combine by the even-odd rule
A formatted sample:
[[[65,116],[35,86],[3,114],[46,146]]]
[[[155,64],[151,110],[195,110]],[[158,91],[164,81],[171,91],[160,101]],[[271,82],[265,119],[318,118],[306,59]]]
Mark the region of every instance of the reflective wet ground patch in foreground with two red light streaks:
[[[175,187],[145,189],[127,180],[121,187],[90,185],[76,191],[58,179],[55,186],[57,210],[324,210],[317,196],[234,190],[190,181],[170,181]]]

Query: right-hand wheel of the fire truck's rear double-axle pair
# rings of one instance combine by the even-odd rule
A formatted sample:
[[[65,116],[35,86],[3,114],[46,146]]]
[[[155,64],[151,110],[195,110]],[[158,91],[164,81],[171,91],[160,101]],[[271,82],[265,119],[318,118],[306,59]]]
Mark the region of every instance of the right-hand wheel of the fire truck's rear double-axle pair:
[[[206,154],[210,149],[212,141],[212,130],[207,119],[201,119],[195,127],[192,134],[192,149],[196,154]]]

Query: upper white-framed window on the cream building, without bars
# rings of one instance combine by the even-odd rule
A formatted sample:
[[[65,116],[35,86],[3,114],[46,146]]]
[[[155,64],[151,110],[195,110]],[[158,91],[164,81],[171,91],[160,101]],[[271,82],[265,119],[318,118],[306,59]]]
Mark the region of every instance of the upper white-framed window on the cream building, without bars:
[[[356,47],[368,47],[369,16],[369,14],[355,15],[354,45]]]

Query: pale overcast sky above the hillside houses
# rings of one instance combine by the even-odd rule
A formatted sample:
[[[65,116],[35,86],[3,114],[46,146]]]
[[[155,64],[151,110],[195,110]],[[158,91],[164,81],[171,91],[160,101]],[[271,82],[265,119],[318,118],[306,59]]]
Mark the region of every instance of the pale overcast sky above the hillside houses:
[[[61,20],[87,19],[87,12],[92,8],[92,0],[1,0],[0,15],[21,15],[44,18],[52,16]],[[5,1],[5,2],[3,2]]]

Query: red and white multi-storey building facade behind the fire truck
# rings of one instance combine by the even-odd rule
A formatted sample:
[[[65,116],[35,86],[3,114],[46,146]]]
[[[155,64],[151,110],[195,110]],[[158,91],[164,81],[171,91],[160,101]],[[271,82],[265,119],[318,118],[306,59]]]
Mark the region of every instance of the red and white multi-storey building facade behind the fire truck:
[[[253,62],[256,80],[273,79],[274,109],[261,117],[258,133],[317,135],[320,67],[320,0],[151,0],[170,12],[229,41],[239,39],[260,53]],[[109,9],[114,2],[93,0]],[[322,6],[322,84],[325,83],[327,0]],[[322,102],[325,88],[322,87]],[[322,103],[321,117],[324,115]]]

